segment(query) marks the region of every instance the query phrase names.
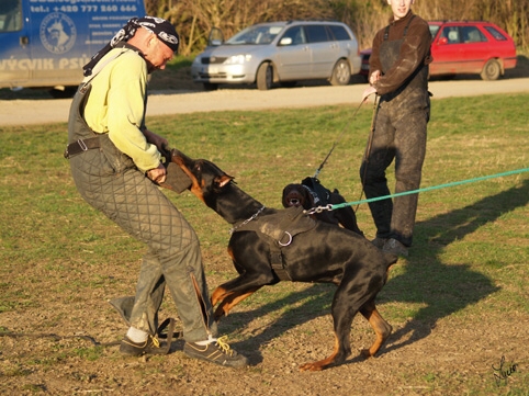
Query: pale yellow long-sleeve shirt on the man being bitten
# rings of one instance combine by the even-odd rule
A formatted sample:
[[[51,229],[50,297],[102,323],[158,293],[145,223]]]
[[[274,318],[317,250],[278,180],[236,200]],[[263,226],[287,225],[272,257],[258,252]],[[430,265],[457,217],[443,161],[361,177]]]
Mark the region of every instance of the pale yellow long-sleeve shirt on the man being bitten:
[[[116,57],[120,53],[123,54]],[[105,64],[112,58],[115,59]],[[131,157],[139,170],[157,168],[160,152],[142,133],[147,94],[145,60],[133,49],[114,48],[99,65],[104,67],[91,82],[85,108],[88,126],[95,133],[108,133],[117,149]]]

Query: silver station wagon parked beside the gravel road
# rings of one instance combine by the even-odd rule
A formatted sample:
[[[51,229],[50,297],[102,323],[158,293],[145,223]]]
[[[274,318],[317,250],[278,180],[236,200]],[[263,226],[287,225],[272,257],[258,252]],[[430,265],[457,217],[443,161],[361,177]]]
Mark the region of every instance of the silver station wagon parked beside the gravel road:
[[[213,37],[220,36],[220,39]],[[205,90],[218,84],[274,83],[293,87],[300,80],[328,79],[346,86],[360,71],[354,34],[340,22],[289,21],[249,26],[226,42],[212,31],[207,48],[196,56],[191,73]]]

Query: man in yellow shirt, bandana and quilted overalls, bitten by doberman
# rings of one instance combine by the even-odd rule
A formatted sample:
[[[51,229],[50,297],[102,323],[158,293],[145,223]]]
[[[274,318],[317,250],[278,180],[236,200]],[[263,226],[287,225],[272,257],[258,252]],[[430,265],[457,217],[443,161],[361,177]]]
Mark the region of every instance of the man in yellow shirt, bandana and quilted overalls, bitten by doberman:
[[[183,323],[185,354],[243,367],[248,360],[216,338],[199,239],[157,184],[167,178],[167,139],[145,126],[147,77],[178,50],[175,27],[158,18],[132,19],[85,66],[70,109],[65,156],[77,189],[93,207],[148,247],[135,297],[112,302],[130,325],[120,351],[149,353],[158,344],[166,285]]]

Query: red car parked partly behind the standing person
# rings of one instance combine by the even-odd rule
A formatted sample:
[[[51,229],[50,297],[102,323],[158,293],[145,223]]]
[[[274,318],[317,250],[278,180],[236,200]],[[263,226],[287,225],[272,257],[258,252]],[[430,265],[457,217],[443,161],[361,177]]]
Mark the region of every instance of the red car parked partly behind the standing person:
[[[480,75],[483,80],[497,80],[506,69],[516,67],[513,38],[489,22],[430,21],[430,76]],[[368,76],[371,49],[361,53],[360,75]]]

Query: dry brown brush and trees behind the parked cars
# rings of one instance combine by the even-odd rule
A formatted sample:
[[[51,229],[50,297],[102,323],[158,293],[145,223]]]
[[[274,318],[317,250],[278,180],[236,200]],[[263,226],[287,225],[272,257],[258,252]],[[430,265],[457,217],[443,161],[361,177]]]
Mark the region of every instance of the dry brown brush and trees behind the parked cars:
[[[386,0],[145,0],[145,5],[150,15],[177,26],[182,55],[204,49],[212,27],[228,38],[254,23],[299,19],[345,22],[363,49],[371,47],[374,34],[391,16]],[[529,0],[416,0],[413,10],[425,20],[496,23],[519,52],[529,49]]]

